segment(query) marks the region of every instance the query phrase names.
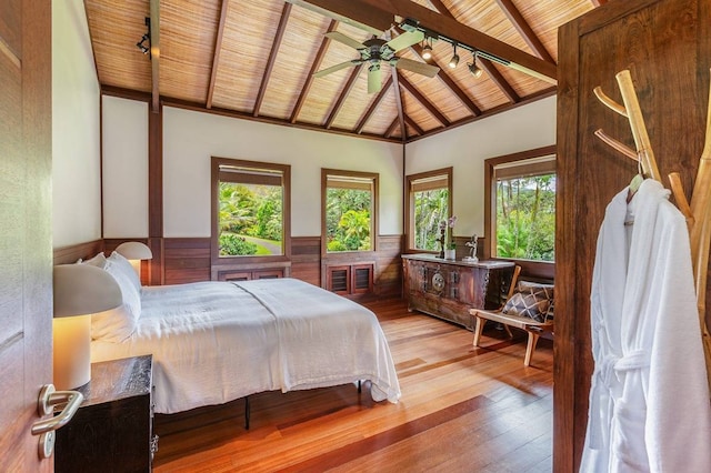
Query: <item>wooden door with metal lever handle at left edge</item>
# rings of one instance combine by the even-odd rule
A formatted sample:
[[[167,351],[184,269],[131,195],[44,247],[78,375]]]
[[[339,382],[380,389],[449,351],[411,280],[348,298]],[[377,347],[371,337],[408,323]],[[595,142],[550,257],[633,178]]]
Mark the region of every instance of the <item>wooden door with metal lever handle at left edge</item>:
[[[0,2],[0,471],[40,461],[40,388],[52,381],[51,2]]]

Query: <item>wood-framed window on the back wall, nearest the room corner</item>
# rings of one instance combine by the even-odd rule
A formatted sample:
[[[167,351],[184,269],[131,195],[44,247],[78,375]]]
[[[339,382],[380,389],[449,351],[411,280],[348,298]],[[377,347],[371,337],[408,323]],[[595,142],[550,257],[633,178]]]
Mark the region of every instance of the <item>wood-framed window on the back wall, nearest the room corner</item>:
[[[322,251],[374,251],[378,174],[321,170]]]

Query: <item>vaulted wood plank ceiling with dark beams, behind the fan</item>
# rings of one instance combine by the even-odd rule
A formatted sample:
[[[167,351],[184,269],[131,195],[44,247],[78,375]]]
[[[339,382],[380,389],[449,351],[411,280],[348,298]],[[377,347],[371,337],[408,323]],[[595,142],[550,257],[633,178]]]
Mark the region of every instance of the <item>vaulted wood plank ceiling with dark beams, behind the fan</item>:
[[[409,142],[555,92],[558,28],[603,0],[84,0],[102,91],[231,117]],[[326,11],[328,10],[328,11]],[[413,13],[420,18],[414,18]],[[357,18],[356,18],[357,17]],[[432,42],[440,68],[428,78],[382,62],[382,88],[368,93],[368,63],[313,73],[359,58],[327,38],[359,42],[362,22],[402,34],[403,18],[445,38]],[[351,21],[353,20],[353,21]],[[384,28],[375,23],[385,22]],[[150,24],[150,26],[149,26]],[[149,32],[150,53],[138,43]],[[472,54],[448,67],[452,42],[524,64],[538,73]],[[414,61],[424,42],[397,52]],[[551,73],[552,71],[552,73]],[[549,77],[545,77],[549,76]]]

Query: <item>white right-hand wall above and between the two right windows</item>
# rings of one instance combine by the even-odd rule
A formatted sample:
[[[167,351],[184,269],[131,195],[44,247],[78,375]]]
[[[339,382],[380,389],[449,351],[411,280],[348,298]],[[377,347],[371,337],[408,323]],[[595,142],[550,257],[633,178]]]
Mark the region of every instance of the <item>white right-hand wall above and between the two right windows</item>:
[[[482,236],[484,160],[555,144],[555,97],[405,145],[405,174],[453,167],[454,234]]]

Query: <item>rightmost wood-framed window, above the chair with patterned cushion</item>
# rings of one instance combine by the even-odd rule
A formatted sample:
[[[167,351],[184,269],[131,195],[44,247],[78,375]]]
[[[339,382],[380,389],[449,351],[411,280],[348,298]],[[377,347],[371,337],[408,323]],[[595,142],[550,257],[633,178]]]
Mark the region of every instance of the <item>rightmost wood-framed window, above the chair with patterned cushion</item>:
[[[487,160],[485,168],[490,255],[554,262],[554,147]]]

